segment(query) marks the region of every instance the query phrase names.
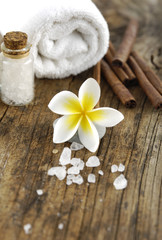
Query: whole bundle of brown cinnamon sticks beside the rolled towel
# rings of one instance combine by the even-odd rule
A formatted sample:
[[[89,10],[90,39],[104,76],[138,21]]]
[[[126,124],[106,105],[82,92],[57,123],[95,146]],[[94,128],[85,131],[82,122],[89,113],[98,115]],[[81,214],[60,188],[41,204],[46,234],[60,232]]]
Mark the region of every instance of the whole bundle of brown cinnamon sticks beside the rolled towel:
[[[118,50],[115,51],[113,44],[109,43],[104,59],[94,67],[94,78],[100,84],[101,72],[113,92],[128,108],[136,106],[128,87],[139,84],[152,105],[158,109],[162,107],[162,82],[144,59],[132,51],[137,31],[138,21],[131,19]]]

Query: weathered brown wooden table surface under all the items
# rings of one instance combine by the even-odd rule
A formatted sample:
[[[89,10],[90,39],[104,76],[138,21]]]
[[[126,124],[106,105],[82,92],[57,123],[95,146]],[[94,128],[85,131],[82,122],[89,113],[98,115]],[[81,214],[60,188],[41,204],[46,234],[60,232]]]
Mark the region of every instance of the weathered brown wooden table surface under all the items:
[[[162,76],[162,1],[94,2],[108,21],[116,46],[128,19],[139,19],[134,48]],[[36,80],[35,100],[29,106],[0,102],[0,240],[162,239],[161,111],[151,106],[139,86],[130,88],[137,107],[126,109],[102,79],[101,106],[118,109],[125,119],[107,129],[96,153],[101,165],[84,168],[84,184],[67,186],[65,180],[47,175],[58,165],[64,146],[69,146],[53,144],[52,123],[57,116],[47,105],[61,90],[77,93],[92,71],[63,80]],[[53,154],[53,149],[58,153]],[[84,161],[91,155],[86,149],[73,152]],[[126,166],[128,186],[117,191],[113,181],[119,173],[111,173],[110,168],[119,163]],[[94,184],[87,184],[90,172],[96,175]],[[38,196],[37,189],[44,194]],[[23,230],[27,223],[32,225],[29,235]]]

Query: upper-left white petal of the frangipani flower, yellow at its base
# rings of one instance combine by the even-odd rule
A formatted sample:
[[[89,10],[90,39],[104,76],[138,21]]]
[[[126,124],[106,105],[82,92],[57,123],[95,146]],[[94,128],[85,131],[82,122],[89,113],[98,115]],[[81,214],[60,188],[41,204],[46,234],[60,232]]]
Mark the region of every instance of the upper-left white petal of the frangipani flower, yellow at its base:
[[[78,97],[70,91],[57,93],[48,104],[51,111],[61,114],[74,114],[82,111]]]

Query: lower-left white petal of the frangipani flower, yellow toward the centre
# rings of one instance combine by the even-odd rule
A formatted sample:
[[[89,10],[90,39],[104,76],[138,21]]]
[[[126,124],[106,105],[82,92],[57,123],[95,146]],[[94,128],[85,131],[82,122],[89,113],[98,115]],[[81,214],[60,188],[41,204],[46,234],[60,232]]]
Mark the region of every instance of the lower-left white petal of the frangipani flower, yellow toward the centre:
[[[78,130],[82,117],[80,114],[72,114],[61,117],[54,126],[54,143],[68,141]]]

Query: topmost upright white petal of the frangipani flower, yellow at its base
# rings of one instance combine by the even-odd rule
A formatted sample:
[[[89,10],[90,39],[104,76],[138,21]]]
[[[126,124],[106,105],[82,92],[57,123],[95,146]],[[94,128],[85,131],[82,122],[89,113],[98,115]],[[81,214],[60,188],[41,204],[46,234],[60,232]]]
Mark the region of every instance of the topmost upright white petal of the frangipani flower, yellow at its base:
[[[93,78],[88,78],[79,89],[79,100],[85,111],[90,111],[100,99],[100,86]]]

